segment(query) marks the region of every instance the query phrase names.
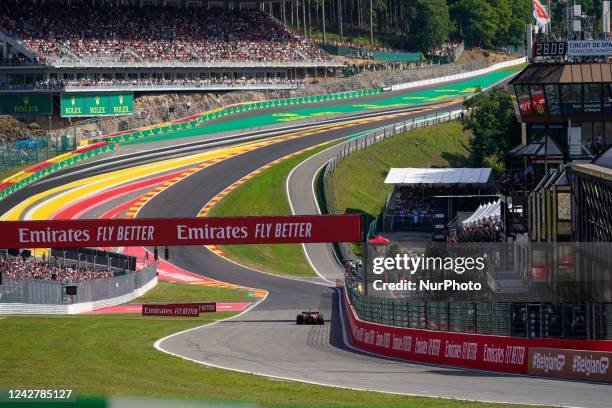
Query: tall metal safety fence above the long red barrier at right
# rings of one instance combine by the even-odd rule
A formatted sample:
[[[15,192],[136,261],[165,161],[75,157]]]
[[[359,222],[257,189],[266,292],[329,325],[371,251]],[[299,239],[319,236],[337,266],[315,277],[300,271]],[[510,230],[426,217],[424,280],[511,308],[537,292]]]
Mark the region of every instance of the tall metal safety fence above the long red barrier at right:
[[[465,302],[365,296],[345,289],[360,319],[397,327],[525,338],[612,339],[612,303]]]

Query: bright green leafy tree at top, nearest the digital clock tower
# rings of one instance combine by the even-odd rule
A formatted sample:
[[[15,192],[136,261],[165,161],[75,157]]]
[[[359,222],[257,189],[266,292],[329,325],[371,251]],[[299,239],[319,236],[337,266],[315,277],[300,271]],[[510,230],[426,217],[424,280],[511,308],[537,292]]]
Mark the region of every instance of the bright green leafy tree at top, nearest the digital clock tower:
[[[484,47],[493,44],[496,15],[487,0],[460,0],[451,8],[451,15],[467,43]]]

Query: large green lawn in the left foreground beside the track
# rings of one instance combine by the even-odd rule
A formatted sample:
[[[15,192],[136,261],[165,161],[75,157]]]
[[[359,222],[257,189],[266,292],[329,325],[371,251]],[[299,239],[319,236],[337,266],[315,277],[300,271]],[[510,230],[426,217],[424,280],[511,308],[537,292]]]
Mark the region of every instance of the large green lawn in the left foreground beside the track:
[[[162,287],[159,293],[154,293],[155,299],[173,300],[187,286]],[[219,293],[210,287],[192,286],[200,292],[198,299],[212,299]],[[192,295],[186,291],[182,300]],[[225,296],[223,300],[228,299],[227,293]],[[0,319],[3,362],[0,389],[72,389],[79,398],[76,404],[53,405],[57,407],[83,406],[88,400],[95,401],[92,396],[251,402],[273,407],[486,406],[270,380],[208,368],[153,347],[161,337],[232,315],[219,312],[200,318],[145,318],[137,314],[7,316]],[[98,405],[87,406],[106,404],[98,400]]]

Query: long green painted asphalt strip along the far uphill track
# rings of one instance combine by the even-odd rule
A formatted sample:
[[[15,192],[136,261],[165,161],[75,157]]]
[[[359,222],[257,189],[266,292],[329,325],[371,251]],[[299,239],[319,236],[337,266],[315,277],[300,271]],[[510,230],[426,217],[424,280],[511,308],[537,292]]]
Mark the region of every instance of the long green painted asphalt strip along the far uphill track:
[[[359,103],[358,100],[349,102],[344,100],[342,103],[337,102],[335,105],[315,106],[304,109],[293,110],[291,112],[274,112],[264,113],[257,116],[250,116],[235,120],[226,120],[218,123],[207,123],[191,129],[181,130],[170,134],[161,134],[157,136],[149,136],[131,142],[123,142],[122,144],[134,144],[144,142],[155,142],[159,140],[192,137],[207,135],[212,133],[221,133],[228,131],[236,131],[241,129],[256,128],[260,126],[274,125],[278,123],[291,122],[296,120],[304,120],[319,116],[328,116],[350,112],[361,112],[372,109],[398,108],[406,106],[420,105],[424,103],[440,102],[442,100],[469,96],[476,92],[479,88],[487,88],[496,84],[499,81],[513,75],[514,72],[494,71],[489,74],[471,78],[465,81],[454,84],[440,86],[424,91],[406,92],[401,95],[396,95],[390,98],[381,99],[378,101]]]

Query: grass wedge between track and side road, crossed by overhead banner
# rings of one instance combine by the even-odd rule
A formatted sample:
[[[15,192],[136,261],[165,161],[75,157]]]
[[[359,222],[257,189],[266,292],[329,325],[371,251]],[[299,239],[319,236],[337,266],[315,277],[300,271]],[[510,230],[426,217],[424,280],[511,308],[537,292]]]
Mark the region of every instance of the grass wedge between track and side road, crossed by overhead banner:
[[[219,201],[209,216],[291,214],[285,191],[289,172],[329,146],[326,144],[309,150],[261,172]],[[300,244],[228,245],[220,248],[230,259],[249,268],[278,275],[316,276]]]

